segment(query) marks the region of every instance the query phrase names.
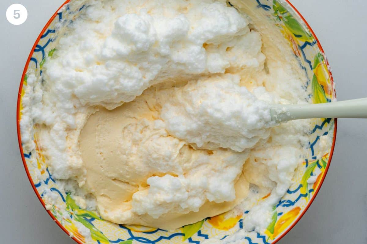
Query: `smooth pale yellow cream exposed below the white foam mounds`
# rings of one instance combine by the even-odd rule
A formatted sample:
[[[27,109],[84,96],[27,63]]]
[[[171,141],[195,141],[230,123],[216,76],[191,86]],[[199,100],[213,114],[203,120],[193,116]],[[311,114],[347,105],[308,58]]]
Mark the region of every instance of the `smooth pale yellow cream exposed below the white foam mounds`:
[[[173,89],[157,92],[154,88],[149,89],[134,101],[114,110],[100,108],[84,126],[80,135],[80,151],[87,170],[84,188],[96,197],[103,218],[121,224],[171,230],[231,210],[247,196],[249,183],[240,172],[248,153],[194,150],[182,140],[168,135],[160,126],[163,122],[159,120],[159,101],[169,98]],[[225,172],[233,164],[238,166],[239,174],[236,174],[240,175],[234,179],[235,199],[210,202],[205,192],[197,192],[203,201],[198,211],[192,211],[193,206],[180,206],[172,199],[171,202],[164,200],[158,204],[162,209],[169,210],[161,213],[159,211],[162,210],[157,209],[161,213],[158,218],[137,213],[137,210],[144,209],[142,204],[149,200],[154,200],[154,203],[161,200],[159,194],[149,194],[147,179],[150,177],[183,175],[192,182],[210,177],[215,180],[213,172]],[[191,187],[195,184],[187,186],[186,190],[195,192]],[[172,192],[175,190],[168,188],[164,191],[168,191],[173,198],[180,198],[179,191]],[[197,196],[194,194],[191,197]],[[186,203],[195,205],[195,200]]]

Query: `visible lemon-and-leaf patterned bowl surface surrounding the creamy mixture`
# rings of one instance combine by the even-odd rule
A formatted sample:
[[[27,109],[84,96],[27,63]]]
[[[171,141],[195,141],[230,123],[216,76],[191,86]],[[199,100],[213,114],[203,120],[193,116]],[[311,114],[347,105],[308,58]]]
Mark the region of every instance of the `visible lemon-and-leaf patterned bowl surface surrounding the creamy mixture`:
[[[70,1],[70,0],[69,0]],[[68,23],[78,16],[84,6],[71,10],[66,1],[62,7],[48,21],[27,60],[21,84],[19,87],[17,107],[17,128],[19,147],[23,163],[28,174],[30,183],[34,188],[43,206],[47,209],[55,222],[72,237],[77,243],[84,244],[88,240],[80,231],[80,226],[88,228],[91,232],[93,244],[167,244],[167,243],[195,243],[200,244],[204,240],[216,237],[226,239],[243,227],[243,218],[248,211],[235,218],[226,219],[224,214],[207,218],[196,224],[184,226],[175,232],[167,232],[160,229],[152,229],[142,226],[125,226],[112,224],[102,220],[98,214],[79,209],[74,200],[65,192],[58,189],[58,184],[50,174],[47,163],[42,152],[37,147],[35,151],[23,153],[19,121],[22,116],[22,96],[27,86],[27,72],[36,71],[42,74],[45,56],[52,56],[55,46],[53,42],[57,38],[55,27],[60,23]],[[310,87],[314,103],[331,102],[335,98],[333,78],[323,49],[315,34],[299,12],[287,0],[246,0],[254,1],[257,7],[264,11],[268,18],[279,27],[297,56],[299,64],[305,70],[309,81],[305,89]],[[250,232],[247,237],[238,240],[238,243],[268,244],[276,243],[281,239],[302,217],[308,209],[321,184],[324,181],[330,166],[334,150],[336,136],[336,122],[332,119],[315,120],[315,127],[310,135],[309,158],[305,159],[303,165],[299,166],[295,183],[287,194],[274,206],[272,222],[264,235]],[[333,146],[326,152],[321,152],[318,146],[320,136],[332,134]],[[37,143],[37,135],[34,141]],[[317,155],[323,155],[321,158]],[[317,173],[315,173],[317,171]],[[313,184],[308,183],[310,176],[318,174]],[[44,192],[57,193],[57,204],[49,204]],[[268,196],[264,196],[264,199]],[[233,242],[232,242],[233,243]]]

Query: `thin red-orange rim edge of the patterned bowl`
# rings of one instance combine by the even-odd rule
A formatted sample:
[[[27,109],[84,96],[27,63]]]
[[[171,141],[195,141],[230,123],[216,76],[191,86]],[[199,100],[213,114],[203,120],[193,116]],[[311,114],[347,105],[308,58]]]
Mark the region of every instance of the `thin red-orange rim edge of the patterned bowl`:
[[[32,177],[30,176],[30,173],[29,173],[29,169],[28,169],[28,166],[27,166],[27,163],[26,163],[26,159],[24,157],[24,152],[23,152],[23,147],[22,147],[22,139],[21,139],[21,131],[20,131],[20,107],[21,107],[21,97],[22,97],[22,90],[23,90],[23,83],[24,83],[24,78],[25,78],[25,75],[26,75],[26,72],[28,70],[28,66],[29,66],[29,62],[30,62],[30,58],[32,57],[33,53],[34,53],[34,49],[36,48],[36,45],[38,44],[38,42],[40,41],[41,39],[41,36],[43,35],[43,33],[47,30],[47,28],[50,26],[50,24],[52,23],[52,21],[54,21],[55,17],[58,15],[58,12],[59,10],[61,10],[62,7],[64,7],[66,4],[68,4],[71,0],[66,0],[63,4],[61,4],[61,6],[55,11],[55,13],[51,16],[51,18],[47,21],[46,25],[43,27],[43,29],[41,30],[40,34],[38,35],[36,41],[34,42],[33,44],[33,47],[29,53],[29,56],[28,56],[28,59],[26,61],[26,64],[25,64],[25,67],[23,69],[23,73],[22,73],[22,77],[21,77],[21,81],[20,81],[20,85],[19,85],[19,91],[18,91],[18,100],[17,100],[17,135],[18,135],[18,144],[19,144],[19,150],[20,150],[20,153],[21,153],[21,157],[22,157],[22,161],[23,161],[23,166],[25,168],[25,171],[26,171],[26,174],[27,174],[27,177],[29,179],[29,182],[33,188],[33,191],[36,193],[37,195],[37,198],[39,199],[40,203],[42,204],[42,206],[44,207],[44,209],[47,211],[48,215],[50,215],[50,217],[54,220],[54,222],[66,233],[69,235],[69,232],[68,230],[66,230],[66,228],[58,221],[58,219],[56,219],[54,217],[54,215],[51,213],[50,210],[47,210],[46,209],[46,204],[44,203],[44,201],[42,200],[39,192],[37,191],[36,189],[36,186],[34,185],[34,182],[32,180]],[[305,23],[306,27],[310,30],[311,34],[313,35],[313,37],[315,38],[316,42],[317,42],[317,46],[318,48],[320,49],[321,53],[323,54],[325,60],[326,60],[326,65],[328,67],[330,67],[329,65],[329,62],[326,58],[326,55],[325,55],[325,52],[324,52],[324,49],[323,47],[321,46],[320,44],[320,41],[319,39],[317,38],[315,32],[312,30],[311,26],[309,25],[309,23],[306,21],[306,19],[304,18],[304,16],[302,16],[302,14],[297,10],[297,8],[290,2],[290,0],[284,0],[285,3],[287,3],[291,8],[292,10],[295,11],[295,14],[297,14],[299,16],[299,18],[302,19],[302,21]],[[331,69],[328,69],[328,73],[329,73],[329,76],[330,76],[330,80],[331,80],[331,85],[334,85],[334,79],[333,79],[333,74],[331,72]],[[336,91],[335,91],[335,87],[334,87],[334,94],[336,94]],[[336,96],[336,95],[335,95]],[[302,213],[297,217],[297,219],[295,219],[295,221],[293,222],[293,224],[291,226],[289,226],[287,228],[287,230],[282,233],[279,237],[277,237],[277,239],[273,240],[272,244],[275,244],[277,243],[280,239],[282,239],[286,234],[288,234],[292,229],[293,227],[299,222],[299,220],[305,215],[305,213],[308,211],[309,207],[311,206],[311,204],[313,203],[313,201],[315,200],[317,194],[319,193],[323,183],[324,183],[324,180],[326,178],[326,175],[327,175],[327,172],[330,168],[330,163],[331,163],[331,160],[333,158],[333,154],[334,154],[334,149],[335,149],[335,142],[336,142],[336,138],[337,138],[337,124],[338,124],[338,119],[334,119],[334,136],[333,136],[333,144],[331,146],[331,150],[330,150],[330,154],[329,154],[329,161],[327,163],[327,166],[325,168],[325,172],[324,172],[324,175],[323,177],[321,178],[320,180],[320,184],[319,186],[317,187],[315,193],[313,194],[312,198],[309,200],[309,202],[307,203],[307,206],[304,208],[304,210],[302,211]],[[74,241],[76,241],[76,243],[78,244],[85,244],[85,243],[82,243],[81,241],[79,241],[78,239],[76,239],[76,237],[72,237],[72,239]]]

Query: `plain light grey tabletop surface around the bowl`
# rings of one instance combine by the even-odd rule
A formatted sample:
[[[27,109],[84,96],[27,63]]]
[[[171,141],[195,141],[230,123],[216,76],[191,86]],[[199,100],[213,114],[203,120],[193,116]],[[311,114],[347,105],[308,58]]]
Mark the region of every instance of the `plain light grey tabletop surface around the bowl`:
[[[64,0],[0,1],[1,243],[73,244],[34,194],[18,150],[16,104],[25,61],[40,30]],[[339,100],[367,97],[367,1],[291,0],[318,36]],[[21,3],[28,19],[7,22]],[[333,162],[315,202],[280,244],[367,243],[367,120],[340,119]]]

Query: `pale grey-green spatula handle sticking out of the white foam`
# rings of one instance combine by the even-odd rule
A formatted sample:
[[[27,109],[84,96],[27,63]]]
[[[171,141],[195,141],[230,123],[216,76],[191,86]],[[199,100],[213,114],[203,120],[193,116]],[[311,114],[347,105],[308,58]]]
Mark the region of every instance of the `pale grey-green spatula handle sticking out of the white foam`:
[[[367,119],[367,98],[309,105],[273,105],[272,119],[277,122],[315,118]]]

